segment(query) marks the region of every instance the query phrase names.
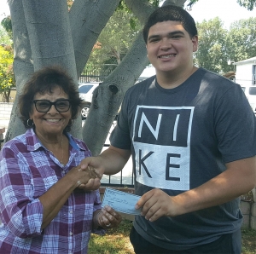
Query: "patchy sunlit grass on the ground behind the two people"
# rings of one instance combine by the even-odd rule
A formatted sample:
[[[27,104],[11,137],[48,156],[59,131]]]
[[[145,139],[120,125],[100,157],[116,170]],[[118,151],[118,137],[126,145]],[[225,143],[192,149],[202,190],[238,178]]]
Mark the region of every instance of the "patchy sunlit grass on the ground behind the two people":
[[[129,240],[132,223],[123,220],[119,228],[112,228],[104,236],[91,234],[89,254],[134,254]],[[241,229],[241,254],[256,254],[256,230]]]

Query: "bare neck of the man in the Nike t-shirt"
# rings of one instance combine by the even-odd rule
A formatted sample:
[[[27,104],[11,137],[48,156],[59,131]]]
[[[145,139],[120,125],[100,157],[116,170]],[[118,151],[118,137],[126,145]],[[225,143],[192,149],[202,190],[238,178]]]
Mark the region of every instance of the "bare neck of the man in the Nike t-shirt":
[[[158,84],[165,89],[173,89],[183,84],[198,68],[193,66],[186,72],[159,72],[156,71],[156,79]]]

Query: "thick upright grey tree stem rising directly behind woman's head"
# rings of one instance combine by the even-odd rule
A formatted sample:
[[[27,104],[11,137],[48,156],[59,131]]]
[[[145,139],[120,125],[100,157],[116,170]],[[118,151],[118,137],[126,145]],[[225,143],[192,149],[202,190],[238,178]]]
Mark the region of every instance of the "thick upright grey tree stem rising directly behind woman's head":
[[[34,70],[44,66],[62,66],[77,83],[73,38],[67,0],[23,0]],[[82,138],[81,118],[73,122],[71,133]]]

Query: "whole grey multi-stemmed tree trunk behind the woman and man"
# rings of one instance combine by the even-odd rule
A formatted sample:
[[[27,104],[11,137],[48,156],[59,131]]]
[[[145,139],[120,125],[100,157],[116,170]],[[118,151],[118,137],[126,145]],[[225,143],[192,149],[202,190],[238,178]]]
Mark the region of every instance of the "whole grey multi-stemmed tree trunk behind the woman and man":
[[[185,1],[175,2],[180,5]],[[66,68],[74,80],[78,80],[77,73],[84,69],[97,37],[118,3],[119,0],[76,0],[69,20],[66,0],[9,1],[15,44],[17,96],[6,140],[25,132],[17,117],[17,98],[30,74],[43,66],[58,64]],[[146,0],[125,0],[125,3],[142,23],[155,9]],[[92,154],[101,153],[126,90],[135,84],[148,64],[146,55],[143,36],[139,33],[124,60],[96,89],[83,132],[81,119],[75,121],[73,136],[83,136]]]

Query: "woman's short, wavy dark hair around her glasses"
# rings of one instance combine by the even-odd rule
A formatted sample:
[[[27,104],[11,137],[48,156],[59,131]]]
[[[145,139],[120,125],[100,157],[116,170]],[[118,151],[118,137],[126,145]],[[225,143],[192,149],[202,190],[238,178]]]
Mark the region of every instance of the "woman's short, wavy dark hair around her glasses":
[[[38,93],[43,95],[49,92],[51,94],[55,87],[60,87],[68,95],[71,117],[77,118],[83,101],[79,97],[78,85],[61,66],[46,66],[32,74],[19,96],[20,118],[26,128],[31,128],[27,125],[27,120],[30,118],[29,113],[32,112],[34,96]],[[70,131],[70,126],[67,126],[64,131]]]

